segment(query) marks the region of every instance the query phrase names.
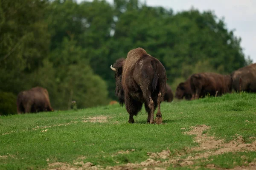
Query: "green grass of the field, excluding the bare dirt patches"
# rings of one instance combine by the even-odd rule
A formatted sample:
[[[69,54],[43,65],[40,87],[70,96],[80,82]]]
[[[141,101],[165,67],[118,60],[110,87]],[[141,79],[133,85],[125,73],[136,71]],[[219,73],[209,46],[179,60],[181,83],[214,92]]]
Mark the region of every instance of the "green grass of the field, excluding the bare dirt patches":
[[[203,133],[225,139],[226,142],[233,140],[236,134],[243,136],[245,142],[252,142],[250,137],[256,137],[255,104],[256,94],[247,93],[195,101],[163,102],[163,125],[146,124],[145,109],[134,117],[134,124],[128,124],[128,113],[125,107],[119,105],[0,116],[0,156],[7,156],[0,157],[0,169],[46,169],[47,162],[72,164],[79,156],[85,156],[84,162],[90,161],[103,167],[141,162],[149,158],[147,152],[160,152],[168,147],[175,154],[185,147],[196,146],[193,136],[183,132],[191,126],[202,124],[211,126]],[[83,122],[83,118],[100,115],[108,116],[108,122]],[[58,126],[67,123],[70,124]],[[38,126],[37,130],[33,129]],[[186,130],[181,130],[182,127]],[[45,129],[47,132],[41,132]],[[131,149],[135,151],[116,154],[119,150]],[[253,161],[256,153],[211,156],[211,161],[198,161],[194,166],[204,167],[212,163],[229,168],[243,163],[239,161],[241,155],[245,155],[247,161]]]

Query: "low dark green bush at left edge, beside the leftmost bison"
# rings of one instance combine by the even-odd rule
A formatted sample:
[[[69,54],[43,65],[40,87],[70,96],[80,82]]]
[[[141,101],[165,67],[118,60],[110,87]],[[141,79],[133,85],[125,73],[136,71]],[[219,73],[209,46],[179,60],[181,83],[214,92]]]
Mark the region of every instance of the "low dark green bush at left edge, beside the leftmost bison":
[[[14,94],[0,91],[0,115],[16,114],[16,100]]]

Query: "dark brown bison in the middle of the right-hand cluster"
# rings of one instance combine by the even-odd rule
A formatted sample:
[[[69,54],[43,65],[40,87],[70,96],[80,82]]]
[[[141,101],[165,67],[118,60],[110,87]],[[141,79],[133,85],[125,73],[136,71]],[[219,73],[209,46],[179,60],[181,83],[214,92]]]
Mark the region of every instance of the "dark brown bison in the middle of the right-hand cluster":
[[[190,77],[192,99],[210,96],[221,96],[232,92],[232,78],[230,75],[217,73],[199,73]]]

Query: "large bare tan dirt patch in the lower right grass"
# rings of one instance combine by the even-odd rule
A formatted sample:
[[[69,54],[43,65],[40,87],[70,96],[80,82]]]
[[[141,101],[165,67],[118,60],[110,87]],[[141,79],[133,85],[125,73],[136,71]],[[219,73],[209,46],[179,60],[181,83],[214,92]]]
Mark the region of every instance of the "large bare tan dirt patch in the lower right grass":
[[[206,133],[206,130],[210,129],[207,125],[198,125],[195,127],[192,127],[192,130],[189,132],[185,132],[185,134],[188,135],[195,135],[195,142],[199,144],[197,147],[192,148],[185,148],[186,153],[183,153],[182,151],[177,151],[174,155],[171,156],[170,150],[167,148],[167,150],[162,150],[160,153],[147,153],[150,158],[152,159],[169,159],[166,161],[166,165],[168,166],[172,164],[173,167],[181,166],[191,166],[194,164],[194,161],[198,161],[202,158],[207,159],[209,156],[214,155],[220,155],[223,153],[228,152],[247,152],[247,151],[256,151],[256,141],[252,142],[251,144],[245,143],[244,139],[241,135],[236,134],[236,139],[225,143],[223,139],[215,139],[214,136],[208,136],[208,133]],[[252,138],[253,139],[253,138]],[[190,156],[189,153],[195,153],[195,156]],[[185,159],[181,159],[181,156],[186,156]],[[208,159],[207,159],[208,160]],[[252,169],[254,168],[255,162],[251,162],[248,167],[236,167],[240,169]],[[207,165],[207,168],[209,169],[221,169],[215,167],[214,164]],[[256,169],[256,167],[255,167]]]

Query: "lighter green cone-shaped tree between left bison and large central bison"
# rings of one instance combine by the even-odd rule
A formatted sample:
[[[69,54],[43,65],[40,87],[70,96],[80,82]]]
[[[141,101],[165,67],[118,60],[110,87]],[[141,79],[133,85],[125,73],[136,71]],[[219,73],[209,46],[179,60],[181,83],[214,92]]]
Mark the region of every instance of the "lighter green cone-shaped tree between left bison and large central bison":
[[[70,109],[73,100],[76,100],[78,108],[108,103],[107,85],[93,73],[85,55],[72,35],[65,37],[61,45],[52,51],[50,59],[55,67],[58,97],[54,100],[57,108]]]

